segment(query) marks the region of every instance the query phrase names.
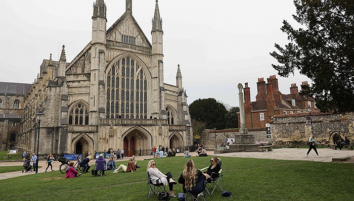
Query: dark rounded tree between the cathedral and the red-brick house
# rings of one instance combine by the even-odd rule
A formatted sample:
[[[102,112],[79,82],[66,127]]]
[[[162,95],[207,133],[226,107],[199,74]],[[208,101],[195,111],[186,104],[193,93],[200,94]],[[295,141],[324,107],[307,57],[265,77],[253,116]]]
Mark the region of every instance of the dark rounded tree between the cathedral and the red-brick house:
[[[214,98],[199,98],[194,100],[189,106],[189,112],[192,119],[206,122],[207,129],[225,128],[225,115],[227,110],[222,103],[218,103]]]

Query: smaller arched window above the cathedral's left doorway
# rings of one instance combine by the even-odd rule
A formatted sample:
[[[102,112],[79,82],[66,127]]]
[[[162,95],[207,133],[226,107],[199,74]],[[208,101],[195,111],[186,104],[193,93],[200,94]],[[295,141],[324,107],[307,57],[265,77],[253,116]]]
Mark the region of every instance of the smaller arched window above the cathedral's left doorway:
[[[89,125],[89,111],[84,105],[78,103],[71,108],[69,125]]]

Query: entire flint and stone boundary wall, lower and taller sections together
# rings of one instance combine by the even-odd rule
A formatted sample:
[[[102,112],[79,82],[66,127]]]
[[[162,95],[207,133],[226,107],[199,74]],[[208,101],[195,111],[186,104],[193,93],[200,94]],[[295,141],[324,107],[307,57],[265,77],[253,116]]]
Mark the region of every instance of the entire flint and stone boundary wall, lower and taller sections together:
[[[254,140],[269,141],[275,146],[305,146],[308,137],[314,133],[315,140],[323,145],[333,144],[335,134],[342,138],[347,136],[350,143],[354,142],[354,113],[345,114],[323,114],[315,112],[312,114],[312,125],[306,126],[305,120],[308,113],[297,113],[288,115],[275,115],[271,122],[271,138],[267,138],[265,129],[248,129],[253,134]],[[207,150],[215,149],[216,146],[225,143],[227,138],[233,138],[239,134],[239,130],[204,130],[199,139]]]

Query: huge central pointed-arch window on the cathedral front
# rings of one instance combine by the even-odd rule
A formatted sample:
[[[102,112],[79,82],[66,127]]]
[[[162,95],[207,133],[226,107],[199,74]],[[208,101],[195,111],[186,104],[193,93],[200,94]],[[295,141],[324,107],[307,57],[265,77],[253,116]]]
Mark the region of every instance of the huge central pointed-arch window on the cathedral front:
[[[106,118],[147,119],[147,79],[137,61],[124,57],[107,74]]]

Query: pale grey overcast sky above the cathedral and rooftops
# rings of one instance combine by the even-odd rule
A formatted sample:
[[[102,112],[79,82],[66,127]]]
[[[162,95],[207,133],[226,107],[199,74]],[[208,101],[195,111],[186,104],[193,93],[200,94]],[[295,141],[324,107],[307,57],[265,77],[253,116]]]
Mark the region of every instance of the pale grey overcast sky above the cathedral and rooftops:
[[[91,41],[94,0],[2,1],[0,11],[0,81],[32,83],[43,59],[58,61],[65,44],[71,62]],[[125,0],[105,0],[107,29],[125,12]],[[132,0],[132,14],[151,42],[155,0]],[[251,100],[257,78],[277,75],[279,89],[290,93],[310,80],[295,73],[281,78],[269,55],[284,46],[280,30],[292,19],[292,0],[159,0],[163,29],[164,82],[175,85],[180,64],[188,104],[213,97],[239,106],[238,83],[248,82]]]

